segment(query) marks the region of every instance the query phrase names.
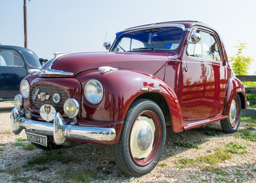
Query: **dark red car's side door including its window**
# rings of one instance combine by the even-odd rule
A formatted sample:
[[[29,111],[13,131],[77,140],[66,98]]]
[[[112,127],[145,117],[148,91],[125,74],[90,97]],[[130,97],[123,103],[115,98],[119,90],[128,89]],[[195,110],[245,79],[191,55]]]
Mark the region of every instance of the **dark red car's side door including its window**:
[[[221,114],[225,101],[225,67],[218,37],[214,32],[195,28],[201,35],[188,43],[179,77],[179,101],[184,120],[202,120]]]

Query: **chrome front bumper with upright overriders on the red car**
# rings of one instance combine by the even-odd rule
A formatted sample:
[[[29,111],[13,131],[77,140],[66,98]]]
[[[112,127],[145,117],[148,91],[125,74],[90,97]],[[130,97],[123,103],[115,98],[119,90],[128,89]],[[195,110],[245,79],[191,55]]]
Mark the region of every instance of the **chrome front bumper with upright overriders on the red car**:
[[[19,134],[23,129],[26,131],[54,136],[54,143],[61,145],[67,138],[89,141],[112,141],[116,133],[113,128],[81,127],[76,124],[67,124],[59,112],[56,113],[54,123],[40,122],[24,118],[16,108],[13,108],[12,130]]]

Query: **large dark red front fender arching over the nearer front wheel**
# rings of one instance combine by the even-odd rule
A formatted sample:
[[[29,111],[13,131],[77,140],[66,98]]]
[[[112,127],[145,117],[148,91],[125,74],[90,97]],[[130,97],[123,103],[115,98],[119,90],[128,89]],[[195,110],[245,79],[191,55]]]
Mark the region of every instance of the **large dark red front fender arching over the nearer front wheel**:
[[[175,132],[183,130],[182,113],[173,89],[161,79],[130,70],[118,70],[101,74],[99,71],[87,71],[77,76],[82,90],[90,79],[98,79],[104,88],[104,96],[98,105],[90,104],[84,94],[81,97],[81,117],[99,121],[123,122],[132,102],[147,93],[141,89],[147,86],[161,88],[152,91],[161,94],[168,104],[171,124]]]

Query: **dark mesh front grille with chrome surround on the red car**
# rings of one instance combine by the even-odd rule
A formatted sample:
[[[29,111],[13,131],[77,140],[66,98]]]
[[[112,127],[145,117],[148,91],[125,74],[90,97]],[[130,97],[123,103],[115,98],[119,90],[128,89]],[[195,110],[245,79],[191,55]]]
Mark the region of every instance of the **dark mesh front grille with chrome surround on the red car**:
[[[36,99],[33,101],[33,95],[35,94],[37,88],[39,88],[39,91],[36,95]],[[50,96],[49,99],[41,101],[41,99],[38,98],[38,95],[40,95],[41,92],[44,92],[46,93],[46,95],[49,95]],[[58,93],[60,95],[60,101],[57,104],[54,102],[54,100],[52,100],[52,96],[55,93]],[[49,104],[55,108],[56,112],[63,110],[63,105],[65,101],[69,98],[65,90],[63,90],[58,86],[49,85],[49,84],[38,84],[33,86],[33,88],[31,88],[30,90],[29,97],[30,97],[31,104],[35,109],[40,110],[40,107],[42,105]]]

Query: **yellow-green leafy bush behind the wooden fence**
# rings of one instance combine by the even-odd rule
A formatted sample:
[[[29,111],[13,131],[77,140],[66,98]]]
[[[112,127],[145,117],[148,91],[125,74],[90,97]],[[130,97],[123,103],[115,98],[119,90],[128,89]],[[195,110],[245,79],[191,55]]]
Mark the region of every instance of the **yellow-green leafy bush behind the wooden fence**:
[[[236,46],[237,53],[229,58],[229,62],[232,64],[232,70],[236,75],[247,75],[248,69],[253,61],[250,56],[244,56],[243,50],[247,49],[246,42],[240,42],[239,46]]]

